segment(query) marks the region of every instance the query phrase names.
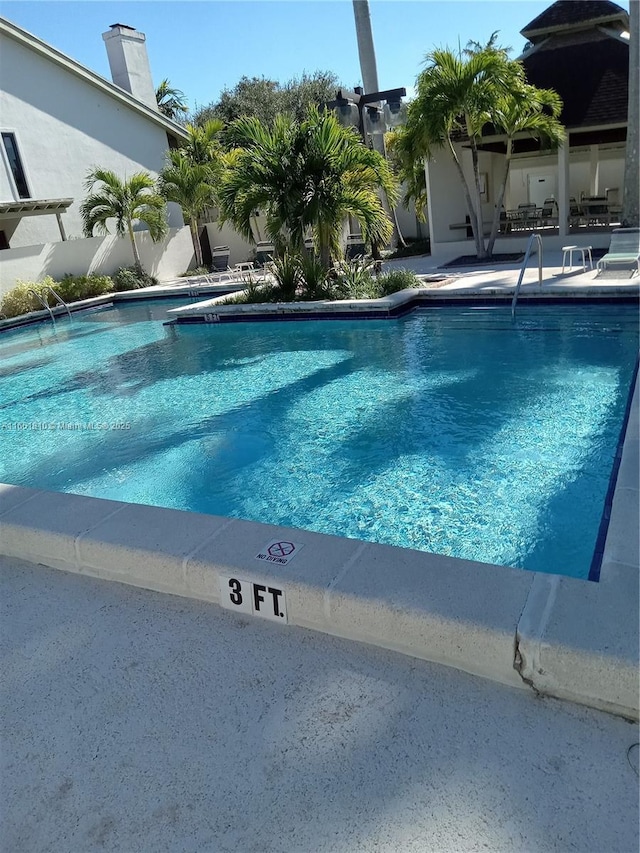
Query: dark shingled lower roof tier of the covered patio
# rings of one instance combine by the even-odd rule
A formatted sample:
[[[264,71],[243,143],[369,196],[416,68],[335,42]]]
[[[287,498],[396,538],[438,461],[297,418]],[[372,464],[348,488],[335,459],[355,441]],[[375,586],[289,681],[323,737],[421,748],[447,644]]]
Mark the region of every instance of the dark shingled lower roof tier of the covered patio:
[[[525,54],[522,62],[530,83],[555,89],[562,98],[565,127],[626,122],[629,47],[624,42],[603,36],[579,44],[552,43]]]

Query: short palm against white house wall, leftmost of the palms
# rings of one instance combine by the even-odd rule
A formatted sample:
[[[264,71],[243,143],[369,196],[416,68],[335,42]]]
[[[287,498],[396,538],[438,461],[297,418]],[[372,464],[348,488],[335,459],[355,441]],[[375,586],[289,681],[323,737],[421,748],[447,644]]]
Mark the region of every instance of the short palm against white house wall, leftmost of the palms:
[[[116,234],[128,233],[136,269],[143,272],[138,247],[133,232],[134,222],[144,222],[154,243],[167,233],[165,201],[156,191],[156,185],[147,172],[136,172],[128,180],[108,169],[94,169],[85,181],[89,195],[80,207],[86,237],[94,230],[108,234],[107,222],[115,219]]]

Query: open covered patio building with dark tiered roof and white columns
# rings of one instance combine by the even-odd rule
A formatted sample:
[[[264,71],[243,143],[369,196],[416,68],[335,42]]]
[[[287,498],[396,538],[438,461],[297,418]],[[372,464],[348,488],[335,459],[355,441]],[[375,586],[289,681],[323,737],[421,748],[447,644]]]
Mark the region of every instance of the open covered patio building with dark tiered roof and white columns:
[[[529,39],[520,57],[527,79],[561,96],[567,135],[556,151],[530,137],[515,140],[495,251],[513,250],[514,240],[534,230],[554,248],[569,235],[571,242],[608,244],[622,213],[628,30],[627,12],[608,0],[554,3],[522,30]],[[464,140],[458,149],[471,178],[471,151]],[[483,138],[479,170],[487,234],[505,151],[504,137]],[[432,252],[468,252],[472,235],[464,196],[446,151],[426,164],[426,177]]]

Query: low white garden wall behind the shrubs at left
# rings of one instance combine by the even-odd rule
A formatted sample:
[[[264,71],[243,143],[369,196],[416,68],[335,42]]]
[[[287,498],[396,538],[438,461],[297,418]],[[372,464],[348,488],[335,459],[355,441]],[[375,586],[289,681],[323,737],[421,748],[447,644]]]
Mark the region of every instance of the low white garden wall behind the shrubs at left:
[[[160,243],[148,233],[136,234],[140,260],[147,272],[162,280],[175,278],[193,265],[193,243],[188,227],[172,228]],[[128,237],[90,237],[64,243],[45,243],[0,252],[0,297],[16,281],[40,281],[45,275],[60,279],[65,273],[110,275],[133,265]]]

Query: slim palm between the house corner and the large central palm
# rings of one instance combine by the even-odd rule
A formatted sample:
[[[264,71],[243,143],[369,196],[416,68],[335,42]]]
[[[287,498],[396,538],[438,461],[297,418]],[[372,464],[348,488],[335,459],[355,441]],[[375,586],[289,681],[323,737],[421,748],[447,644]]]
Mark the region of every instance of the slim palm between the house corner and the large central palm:
[[[167,201],[173,201],[182,208],[191,231],[196,266],[201,267],[203,259],[198,237],[198,219],[215,204],[216,194],[212,180],[214,167],[194,163],[188,154],[180,149],[168,151],[167,159],[166,166],[160,172],[158,188]]]

